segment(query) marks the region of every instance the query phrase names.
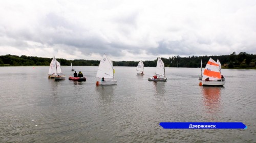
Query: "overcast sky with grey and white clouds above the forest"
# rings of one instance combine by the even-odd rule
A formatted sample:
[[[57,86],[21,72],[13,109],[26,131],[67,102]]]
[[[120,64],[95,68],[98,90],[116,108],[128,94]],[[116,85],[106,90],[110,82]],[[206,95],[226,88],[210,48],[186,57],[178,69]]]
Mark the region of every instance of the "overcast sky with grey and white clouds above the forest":
[[[0,1],[0,55],[67,60],[256,54],[256,1]]]

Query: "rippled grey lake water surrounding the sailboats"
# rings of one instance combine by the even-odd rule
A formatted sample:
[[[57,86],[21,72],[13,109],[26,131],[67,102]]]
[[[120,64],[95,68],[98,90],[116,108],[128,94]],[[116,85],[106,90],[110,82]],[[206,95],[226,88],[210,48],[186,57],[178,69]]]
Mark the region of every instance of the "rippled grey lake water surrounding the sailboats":
[[[0,142],[256,142],[256,70],[223,69],[224,87],[200,87],[199,68],[166,68],[166,82],[114,67],[116,85],[48,79],[49,67],[0,67]],[[163,129],[160,122],[243,122],[247,129]]]

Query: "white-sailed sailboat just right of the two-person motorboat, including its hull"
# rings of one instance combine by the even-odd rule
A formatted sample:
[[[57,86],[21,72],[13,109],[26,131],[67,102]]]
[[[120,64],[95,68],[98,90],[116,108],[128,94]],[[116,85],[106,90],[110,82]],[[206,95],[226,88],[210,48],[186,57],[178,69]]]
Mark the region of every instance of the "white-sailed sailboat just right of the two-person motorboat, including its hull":
[[[103,77],[105,81],[102,81]],[[99,63],[96,78],[96,85],[111,85],[117,83],[117,80],[114,78],[113,62],[106,56],[106,54],[103,55]]]

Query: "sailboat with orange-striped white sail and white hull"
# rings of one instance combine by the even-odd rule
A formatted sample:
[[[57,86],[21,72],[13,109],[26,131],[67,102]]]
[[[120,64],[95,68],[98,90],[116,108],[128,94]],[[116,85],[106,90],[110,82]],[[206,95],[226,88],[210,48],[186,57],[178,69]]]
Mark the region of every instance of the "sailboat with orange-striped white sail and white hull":
[[[206,78],[209,81],[205,81]],[[225,84],[225,81],[221,79],[219,64],[211,58],[205,66],[201,83],[203,86],[223,86]]]

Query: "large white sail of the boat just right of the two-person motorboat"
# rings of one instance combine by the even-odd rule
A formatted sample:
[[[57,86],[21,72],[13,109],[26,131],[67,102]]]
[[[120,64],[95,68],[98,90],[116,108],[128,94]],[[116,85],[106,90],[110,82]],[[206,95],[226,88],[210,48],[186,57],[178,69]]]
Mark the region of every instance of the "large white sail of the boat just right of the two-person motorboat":
[[[97,71],[97,78],[111,78],[114,79],[113,62],[104,54],[101,59]]]

